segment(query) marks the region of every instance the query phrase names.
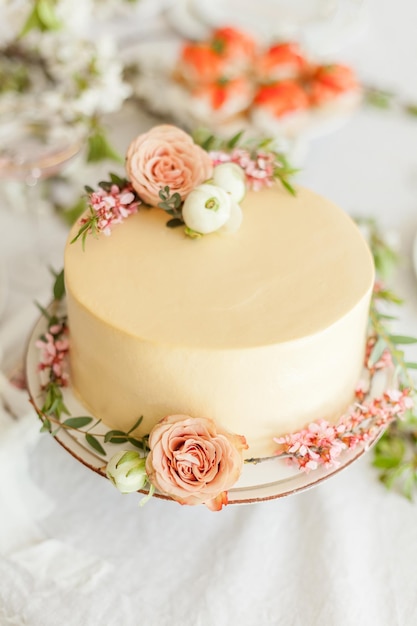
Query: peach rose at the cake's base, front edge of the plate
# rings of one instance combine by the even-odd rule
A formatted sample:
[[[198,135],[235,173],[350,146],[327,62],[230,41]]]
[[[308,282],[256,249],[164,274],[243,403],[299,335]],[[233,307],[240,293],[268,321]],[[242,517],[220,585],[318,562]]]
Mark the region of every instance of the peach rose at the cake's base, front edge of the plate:
[[[208,418],[168,415],[149,435],[149,481],[180,504],[205,504],[218,511],[240,476],[243,436],[218,428]]]

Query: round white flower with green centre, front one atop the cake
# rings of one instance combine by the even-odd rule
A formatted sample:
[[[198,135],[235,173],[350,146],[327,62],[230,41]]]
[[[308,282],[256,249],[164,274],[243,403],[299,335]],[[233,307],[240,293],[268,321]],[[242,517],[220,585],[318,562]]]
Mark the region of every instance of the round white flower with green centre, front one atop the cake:
[[[204,183],[186,197],[182,217],[188,228],[202,235],[212,233],[230,218],[231,196],[221,187]]]

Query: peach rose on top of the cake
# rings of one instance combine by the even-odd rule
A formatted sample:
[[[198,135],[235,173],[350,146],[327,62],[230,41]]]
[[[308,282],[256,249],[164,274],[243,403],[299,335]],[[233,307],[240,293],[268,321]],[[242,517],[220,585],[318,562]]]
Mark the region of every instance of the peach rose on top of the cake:
[[[140,198],[152,206],[159,191],[168,185],[184,199],[197,185],[211,177],[212,161],[192,137],[176,126],[162,124],[139,135],[126,155],[126,171]]]

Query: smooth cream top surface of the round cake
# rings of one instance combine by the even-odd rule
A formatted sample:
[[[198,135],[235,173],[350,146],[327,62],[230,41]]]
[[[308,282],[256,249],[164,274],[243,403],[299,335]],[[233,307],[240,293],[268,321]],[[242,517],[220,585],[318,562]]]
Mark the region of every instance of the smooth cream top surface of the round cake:
[[[140,208],[111,237],[65,251],[67,291],[113,328],[151,343],[245,349],[308,337],[372,289],[354,222],[306,190],[249,191],[238,232],[197,241]]]

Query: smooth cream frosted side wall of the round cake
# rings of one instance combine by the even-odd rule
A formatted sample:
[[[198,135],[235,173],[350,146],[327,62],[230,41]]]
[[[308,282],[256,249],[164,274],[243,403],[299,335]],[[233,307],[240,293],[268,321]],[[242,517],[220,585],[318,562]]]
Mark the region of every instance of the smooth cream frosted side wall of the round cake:
[[[244,434],[251,456],[272,438],[324,418],[353,399],[363,367],[370,293],[338,323],[305,339],[245,350],[190,350],[143,342],[97,320],[68,297],[71,377],[103,422],[138,434],[161,417],[207,416]]]

